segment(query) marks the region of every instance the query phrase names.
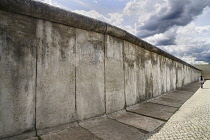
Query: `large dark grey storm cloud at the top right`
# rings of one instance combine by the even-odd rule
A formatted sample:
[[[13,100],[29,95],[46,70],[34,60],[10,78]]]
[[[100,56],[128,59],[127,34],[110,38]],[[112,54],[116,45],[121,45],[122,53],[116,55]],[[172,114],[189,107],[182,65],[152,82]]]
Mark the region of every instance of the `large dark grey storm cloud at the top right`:
[[[143,26],[137,29],[137,36],[145,38],[164,33],[173,26],[185,26],[209,5],[210,0],[169,0],[167,8],[161,9],[158,14],[151,16]]]

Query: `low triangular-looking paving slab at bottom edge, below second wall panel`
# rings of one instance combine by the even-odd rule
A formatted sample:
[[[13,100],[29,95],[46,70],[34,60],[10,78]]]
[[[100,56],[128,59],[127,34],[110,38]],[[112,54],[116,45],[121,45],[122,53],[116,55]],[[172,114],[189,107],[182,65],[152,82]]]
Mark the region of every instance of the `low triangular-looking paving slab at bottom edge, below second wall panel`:
[[[101,140],[82,127],[67,128],[41,136],[42,140]]]

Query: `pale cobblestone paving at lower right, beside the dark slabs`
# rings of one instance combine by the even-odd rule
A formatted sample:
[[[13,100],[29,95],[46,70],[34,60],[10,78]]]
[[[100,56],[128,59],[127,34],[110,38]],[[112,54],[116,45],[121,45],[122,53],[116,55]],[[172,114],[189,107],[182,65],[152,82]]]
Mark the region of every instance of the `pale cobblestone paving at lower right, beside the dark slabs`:
[[[210,140],[210,80],[149,140]]]

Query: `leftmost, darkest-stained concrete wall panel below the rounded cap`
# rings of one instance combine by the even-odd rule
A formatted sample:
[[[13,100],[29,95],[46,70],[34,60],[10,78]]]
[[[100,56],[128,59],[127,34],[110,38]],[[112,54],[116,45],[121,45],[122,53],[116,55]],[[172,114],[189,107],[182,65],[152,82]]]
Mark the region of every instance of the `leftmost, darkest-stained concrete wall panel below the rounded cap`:
[[[0,139],[34,130],[35,38],[35,19],[0,10]]]

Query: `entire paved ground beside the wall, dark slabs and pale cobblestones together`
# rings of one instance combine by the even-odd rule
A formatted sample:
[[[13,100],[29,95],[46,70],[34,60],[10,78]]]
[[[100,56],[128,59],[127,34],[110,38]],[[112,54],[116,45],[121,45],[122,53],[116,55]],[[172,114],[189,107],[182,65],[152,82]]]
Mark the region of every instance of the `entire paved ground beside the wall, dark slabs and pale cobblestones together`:
[[[208,88],[210,81],[205,83],[204,89],[199,89],[197,82],[191,83],[124,111],[76,122],[69,128],[39,135],[42,140],[207,139],[210,138]],[[159,133],[156,133],[158,130]]]

